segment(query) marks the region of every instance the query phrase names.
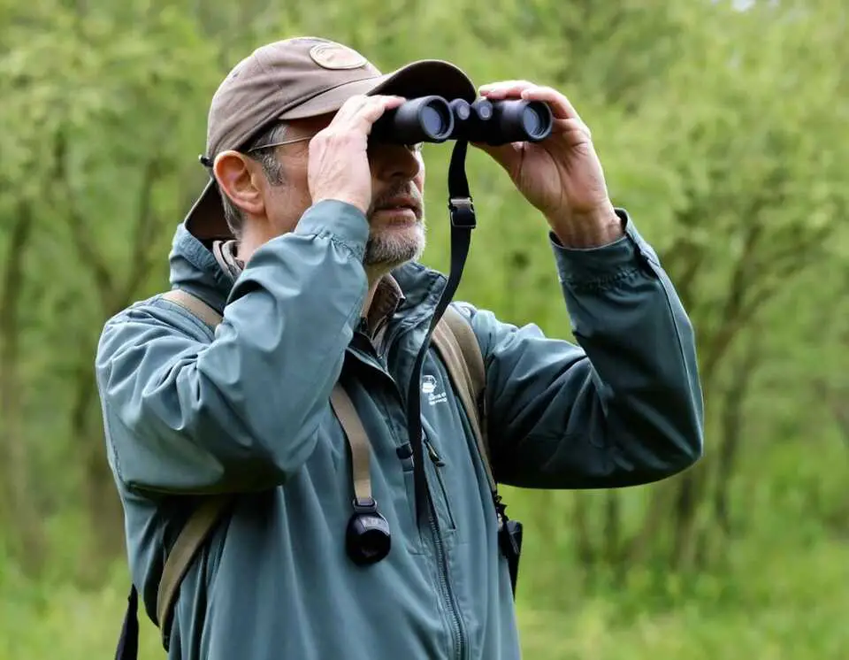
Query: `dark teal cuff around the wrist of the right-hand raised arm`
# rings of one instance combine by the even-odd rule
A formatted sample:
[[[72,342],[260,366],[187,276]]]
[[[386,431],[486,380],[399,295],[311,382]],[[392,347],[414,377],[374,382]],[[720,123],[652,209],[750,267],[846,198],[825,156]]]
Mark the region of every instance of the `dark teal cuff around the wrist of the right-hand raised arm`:
[[[623,272],[637,270],[646,263],[660,265],[654,249],[639,235],[628,212],[616,209],[616,215],[622,220],[624,235],[595,248],[564,247],[554,232],[549,232],[558,276],[563,284],[600,284],[616,279]]]

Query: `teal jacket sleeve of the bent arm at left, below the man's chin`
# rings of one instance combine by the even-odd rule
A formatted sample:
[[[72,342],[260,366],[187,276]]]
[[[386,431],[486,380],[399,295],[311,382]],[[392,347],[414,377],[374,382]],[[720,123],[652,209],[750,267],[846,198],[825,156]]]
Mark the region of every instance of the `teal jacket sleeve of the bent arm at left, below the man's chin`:
[[[362,312],[368,231],[353,206],[313,206],[249,259],[214,339],[161,298],[104,326],[96,378],[126,487],[260,490],[310,456]]]

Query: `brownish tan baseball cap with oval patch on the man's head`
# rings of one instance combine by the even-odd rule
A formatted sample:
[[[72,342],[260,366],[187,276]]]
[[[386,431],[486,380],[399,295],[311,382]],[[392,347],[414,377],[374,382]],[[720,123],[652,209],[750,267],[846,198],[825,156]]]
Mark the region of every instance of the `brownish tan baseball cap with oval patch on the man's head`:
[[[212,96],[204,160],[243,148],[274,121],[337,111],[357,94],[436,94],[471,103],[477,90],[461,69],[442,60],[419,60],[383,74],[356,50],[326,39],[305,36],[269,43],[235,65]],[[233,237],[214,179],[185,223],[203,241]]]

